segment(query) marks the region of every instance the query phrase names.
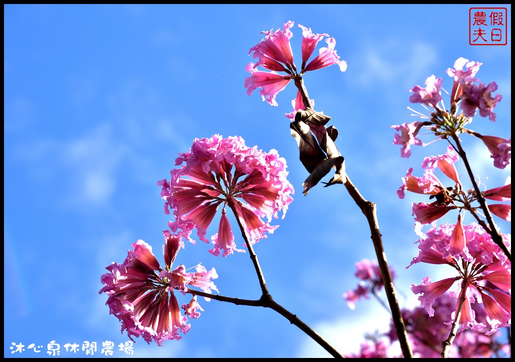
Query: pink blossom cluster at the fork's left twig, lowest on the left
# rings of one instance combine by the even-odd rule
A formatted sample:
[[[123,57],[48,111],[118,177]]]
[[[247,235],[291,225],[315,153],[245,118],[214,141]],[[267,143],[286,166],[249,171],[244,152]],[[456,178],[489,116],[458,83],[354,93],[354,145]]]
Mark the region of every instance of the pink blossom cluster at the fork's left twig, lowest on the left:
[[[162,346],[164,340],[181,339],[179,332],[186,334],[190,324],[187,317],[181,316],[179,304],[174,290],[186,294],[188,286],[198,287],[205,292],[216,290],[211,279],[218,275],[215,269],[205,270],[197,266],[197,272],[186,272],[184,265],[171,269],[179,248],[183,247],[182,237],[164,231],[165,245],[163,246],[165,268],[163,269],[152,253],[152,248],[143,240],[138,240],[129,250],[122,264],[112,263],[108,273],[100,278],[105,286],[99,294],[108,295],[106,304],[110,314],[122,322],[122,332],[127,331],[128,337],[143,337],[147,343],[152,339]],[[202,310],[196,302],[196,297],[185,305],[185,314],[197,318]]]

